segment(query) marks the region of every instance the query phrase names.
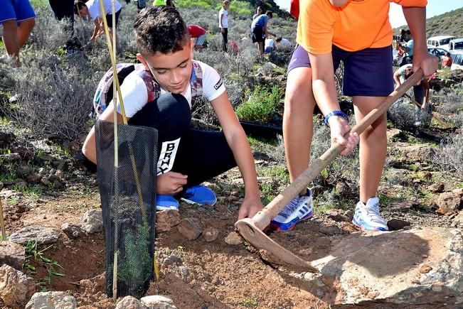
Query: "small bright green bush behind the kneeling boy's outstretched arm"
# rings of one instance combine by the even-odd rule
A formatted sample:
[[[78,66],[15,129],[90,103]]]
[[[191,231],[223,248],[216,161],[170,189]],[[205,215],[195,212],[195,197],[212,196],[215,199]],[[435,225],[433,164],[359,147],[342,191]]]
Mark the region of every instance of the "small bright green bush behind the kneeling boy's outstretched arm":
[[[272,87],[272,91],[257,86],[252,92],[248,102],[240,104],[236,109],[239,119],[259,121],[262,123],[271,122],[277,107],[282,99],[282,90],[279,87]]]

